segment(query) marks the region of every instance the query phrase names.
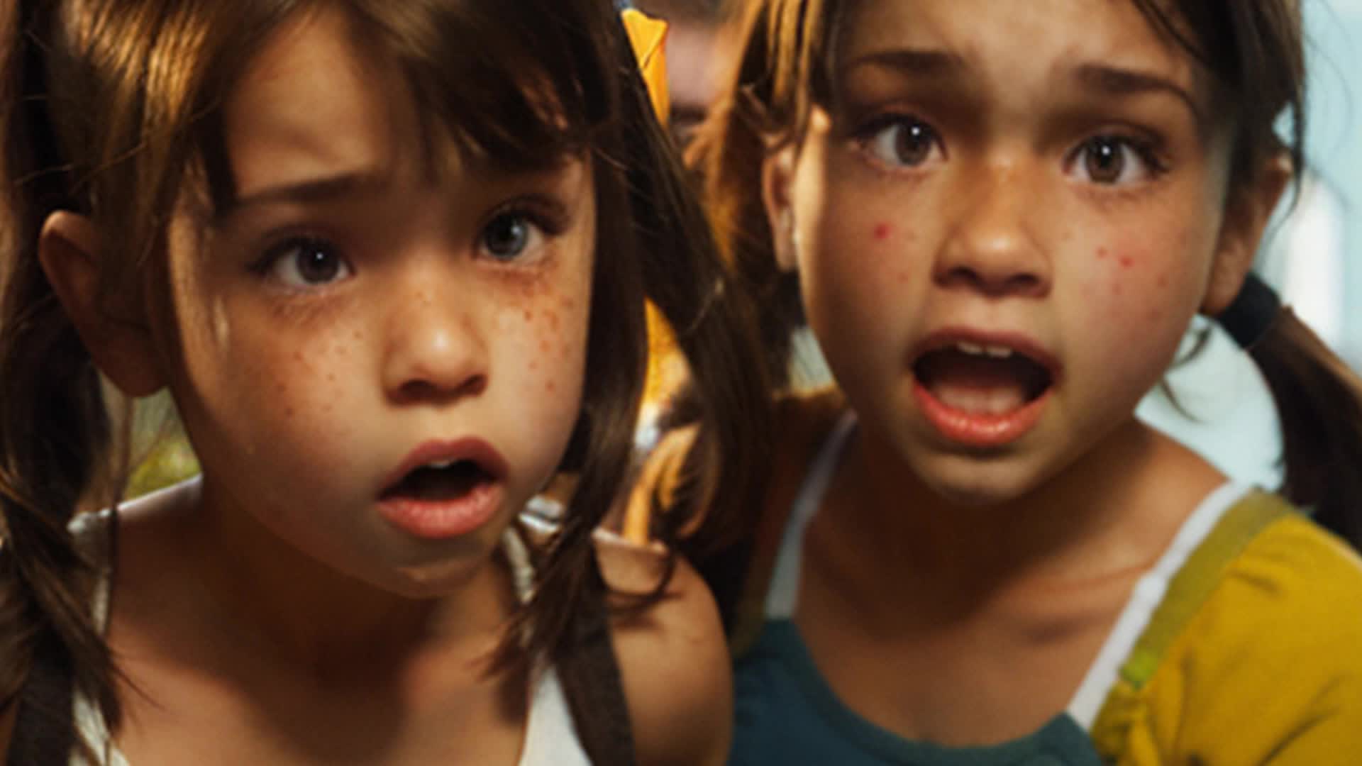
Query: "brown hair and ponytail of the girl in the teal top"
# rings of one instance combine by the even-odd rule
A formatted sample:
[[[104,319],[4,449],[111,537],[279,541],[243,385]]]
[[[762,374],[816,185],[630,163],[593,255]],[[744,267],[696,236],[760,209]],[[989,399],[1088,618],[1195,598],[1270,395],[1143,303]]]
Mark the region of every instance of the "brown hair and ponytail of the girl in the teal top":
[[[720,247],[763,307],[767,372],[789,379],[790,334],[802,323],[798,284],[775,263],[761,203],[761,159],[802,139],[831,98],[834,38],[857,0],[756,0],[740,20],[740,55],[689,158],[704,179]],[[1283,153],[1303,168],[1305,64],[1298,0],[1130,0],[1207,68],[1233,109],[1230,195]],[[1290,117],[1287,140],[1275,125]],[[1252,346],[1284,433],[1283,493],[1362,548],[1362,382],[1288,311]]]

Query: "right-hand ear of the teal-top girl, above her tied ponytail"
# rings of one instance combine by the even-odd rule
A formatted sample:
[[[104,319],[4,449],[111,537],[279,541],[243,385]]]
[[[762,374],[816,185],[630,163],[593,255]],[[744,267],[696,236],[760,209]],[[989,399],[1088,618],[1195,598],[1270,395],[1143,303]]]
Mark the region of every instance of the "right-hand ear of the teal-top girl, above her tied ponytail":
[[[1215,316],[1239,294],[1263,241],[1263,230],[1290,180],[1291,159],[1280,154],[1264,164],[1252,184],[1230,191],[1201,313]]]

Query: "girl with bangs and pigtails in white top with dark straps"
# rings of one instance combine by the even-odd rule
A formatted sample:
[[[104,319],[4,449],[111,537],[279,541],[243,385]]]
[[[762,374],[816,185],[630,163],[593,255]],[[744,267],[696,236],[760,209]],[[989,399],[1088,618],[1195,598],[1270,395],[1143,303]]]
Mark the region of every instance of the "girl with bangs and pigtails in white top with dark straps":
[[[706,420],[765,395],[613,8],[4,14],[7,762],[722,762],[703,583],[592,542],[644,297]],[[120,394],[161,388],[203,473],[118,503]]]

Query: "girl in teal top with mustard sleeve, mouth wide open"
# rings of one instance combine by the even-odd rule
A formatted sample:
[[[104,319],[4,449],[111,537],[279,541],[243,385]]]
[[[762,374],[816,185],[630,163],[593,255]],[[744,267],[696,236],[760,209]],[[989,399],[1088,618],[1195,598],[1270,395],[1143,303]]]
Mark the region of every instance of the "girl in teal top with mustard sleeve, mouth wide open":
[[[1362,541],[1362,387],[1246,282],[1301,166],[1295,4],[760,0],[741,35],[711,219],[767,371],[806,320],[836,388],[780,393],[760,515],[699,562],[730,762],[1354,762],[1362,562],[1324,526]],[[1197,312],[1314,521],[1135,418]]]

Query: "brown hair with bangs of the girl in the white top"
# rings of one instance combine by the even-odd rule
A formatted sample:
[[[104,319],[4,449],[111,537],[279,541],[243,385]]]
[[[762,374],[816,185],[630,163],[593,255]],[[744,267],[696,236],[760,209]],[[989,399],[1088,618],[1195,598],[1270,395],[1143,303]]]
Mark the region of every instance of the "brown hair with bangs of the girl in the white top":
[[[125,473],[112,424],[127,418],[110,418],[91,358],[38,264],[38,232],[54,210],[90,215],[109,247],[110,292],[140,266],[158,269],[185,184],[202,181],[214,203],[233,192],[222,98],[272,30],[323,4],[350,14],[364,49],[399,67],[428,135],[511,168],[583,151],[594,165],[587,378],[561,466],[580,480],[561,526],[534,553],[535,594],[507,631],[500,661],[571,652],[579,605],[603,590],[590,536],[629,459],[644,296],[677,328],[703,420],[740,424],[715,428],[706,443],[712,482],[738,497],[755,485],[752,461],[735,446],[748,439],[740,416],[764,401],[764,386],[731,369],[757,353],[742,330],[749,309],[725,288],[723,262],[609,3],[25,0],[0,70],[3,192],[14,218],[0,244],[0,707],[16,699],[38,642],[50,642],[76,688],[99,701],[110,726],[118,721],[113,662],[87,616],[89,570],[67,522],[98,477]]]

